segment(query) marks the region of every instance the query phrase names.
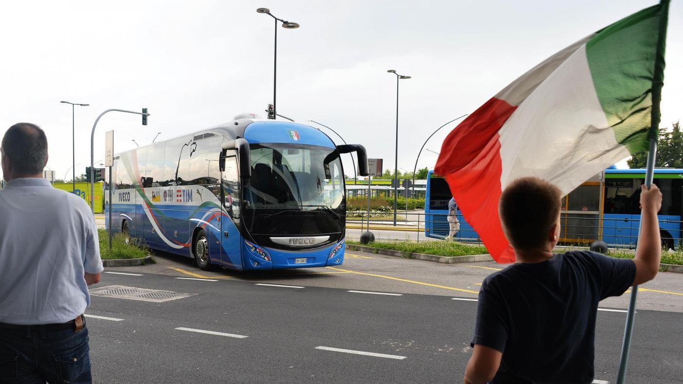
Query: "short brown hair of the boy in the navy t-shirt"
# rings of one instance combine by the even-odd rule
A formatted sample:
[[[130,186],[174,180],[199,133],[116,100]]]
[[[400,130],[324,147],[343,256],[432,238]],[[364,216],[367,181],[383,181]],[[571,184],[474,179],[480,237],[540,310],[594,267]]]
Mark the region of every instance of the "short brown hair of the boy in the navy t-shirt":
[[[546,244],[557,223],[561,191],[535,177],[518,178],[505,188],[498,212],[503,231],[516,249],[538,249]]]

